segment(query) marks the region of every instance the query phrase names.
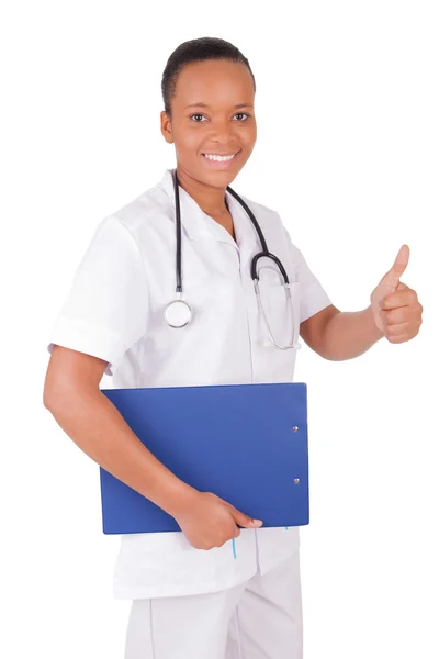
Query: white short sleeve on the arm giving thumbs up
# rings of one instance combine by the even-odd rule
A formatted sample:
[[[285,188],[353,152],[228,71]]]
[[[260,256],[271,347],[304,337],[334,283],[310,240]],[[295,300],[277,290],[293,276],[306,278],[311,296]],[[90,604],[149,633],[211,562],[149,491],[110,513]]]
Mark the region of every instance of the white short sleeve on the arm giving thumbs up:
[[[311,271],[302,252],[292,243],[291,236],[285,226],[283,228],[286,234],[286,241],[289,244],[295,277],[296,280],[301,282],[300,322],[303,323],[326,306],[329,306],[331,301],[317,277]]]

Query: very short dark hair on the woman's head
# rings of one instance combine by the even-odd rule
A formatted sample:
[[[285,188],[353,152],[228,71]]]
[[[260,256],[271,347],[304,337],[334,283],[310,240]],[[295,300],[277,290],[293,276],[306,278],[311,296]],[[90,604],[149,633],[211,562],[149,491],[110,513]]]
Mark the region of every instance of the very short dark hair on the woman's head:
[[[247,57],[233,44],[224,38],[214,36],[202,36],[180,44],[168,58],[161,77],[161,96],[164,98],[165,111],[170,114],[171,99],[176,93],[177,79],[182,68],[192,62],[204,59],[226,59],[228,62],[240,62],[251,74],[256,90],[255,76]]]

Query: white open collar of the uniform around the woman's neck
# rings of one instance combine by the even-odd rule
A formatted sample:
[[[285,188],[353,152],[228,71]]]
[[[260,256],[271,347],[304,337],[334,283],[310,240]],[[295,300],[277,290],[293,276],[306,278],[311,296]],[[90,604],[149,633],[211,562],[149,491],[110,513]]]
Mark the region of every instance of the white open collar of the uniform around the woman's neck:
[[[160,181],[165,189],[169,204],[172,210],[172,221],[176,220],[176,197],[173,190],[172,169],[167,169]],[[226,190],[227,204],[234,221],[236,243],[224,226],[213,217],[204,213],[196,201],[181,187],[180,192],[180,215],[181,225],[191,241],[221,241],[228,243],[239,252],[241,267],[247,263],[250,255],[256,254],[261,248],[259,246],[258,235],[250,217],[241,206],[239,201]],[[247,200],[246,200],[247,201]]]

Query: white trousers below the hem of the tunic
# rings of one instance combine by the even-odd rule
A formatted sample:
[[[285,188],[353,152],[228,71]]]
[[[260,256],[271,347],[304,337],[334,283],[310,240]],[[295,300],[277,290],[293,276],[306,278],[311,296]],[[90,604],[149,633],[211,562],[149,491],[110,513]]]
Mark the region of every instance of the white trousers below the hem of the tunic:
[[[133,600],[125,659],[303,659],[299,550],[216,593]]]

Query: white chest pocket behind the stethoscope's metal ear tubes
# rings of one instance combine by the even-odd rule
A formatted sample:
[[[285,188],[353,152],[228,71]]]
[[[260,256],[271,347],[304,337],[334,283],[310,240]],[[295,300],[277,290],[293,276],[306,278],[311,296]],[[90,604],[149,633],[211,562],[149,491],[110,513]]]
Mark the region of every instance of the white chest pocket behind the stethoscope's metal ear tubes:
[[[272,347],[270,332],[273,339],[281,346],[288,346],[299,340],[300,330],[300,282],[290,281],[288,291],[283,278],[277,266],[263,266],[259,270],[260,304],[258,305],[258,343],[264,347]],[[281,350],[286,351],[286,350]],[[295,350],[290,348],[289,353]]]

